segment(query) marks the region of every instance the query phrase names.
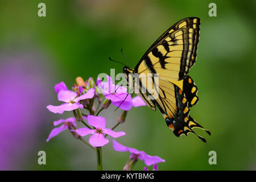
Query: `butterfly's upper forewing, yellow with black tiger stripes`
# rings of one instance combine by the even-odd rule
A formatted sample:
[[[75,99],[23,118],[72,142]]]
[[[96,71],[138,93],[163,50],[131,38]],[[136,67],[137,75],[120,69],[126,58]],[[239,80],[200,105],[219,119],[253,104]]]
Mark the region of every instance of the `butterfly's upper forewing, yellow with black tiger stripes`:
[[[158,73],[166,80],[182,80],[195,64],[200,19],[185,18],[170,27],[142,56],[135,73]]]

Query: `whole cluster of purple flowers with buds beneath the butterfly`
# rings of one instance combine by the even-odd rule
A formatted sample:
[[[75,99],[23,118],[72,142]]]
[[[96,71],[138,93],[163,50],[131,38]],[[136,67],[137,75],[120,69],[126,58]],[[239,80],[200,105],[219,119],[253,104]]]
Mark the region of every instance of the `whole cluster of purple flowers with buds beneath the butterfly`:
[[[100,78],[97,78],[95,83],[93,78],[84,81],[81,77],[77,77],[76,84],[73,84],[72,90],[69,90],[64,82],[55,85],[57,99],[64,103],[58,106],[48,105],[47,109],[52,113],[59,114],[64,113],[64,111],[72,111],[74,117],[54,121],[54,126],[62,125],[51,131],[47,142],[62,131],[69,130],[75,138],[82,140],[82,142],[97,150],[97,155],[100,155],[99,157],[101,158],[101,147],[109,143],[109,139],[106,139],[108,135],[113,138],[126,135],[123,131],[114,131],[115,127],[125,122],[127,111],[132,107],[145,106],[146,104],[139,96],[132,98],[127,93],[127,88],[115,85],[110,76],[106,76],[106,80],[101,81]],[[101,111],[108,109],[110,104],[122,110],[117,119],[117,124],[112,129],[106,128],[106,119],[99,116]],[[86,110],[86,113],[81,109]],[[83,123],[85,127],[77,129],[76,121]],[[82,139],[82,137],[89,134],[91,136],[88,142]],[[150,156],[144,151],[122,146],[115,140],[113,140],[113,148],[116,151],[129,151],[131,153],[124,170],[133,168],[138,159],[142,160],[146,166],[154,165],[154,169],[157,169],[156,163],[164,162],[158,156]],[[98,166],[98,169],[102,169],[102,164],[100,167]]]

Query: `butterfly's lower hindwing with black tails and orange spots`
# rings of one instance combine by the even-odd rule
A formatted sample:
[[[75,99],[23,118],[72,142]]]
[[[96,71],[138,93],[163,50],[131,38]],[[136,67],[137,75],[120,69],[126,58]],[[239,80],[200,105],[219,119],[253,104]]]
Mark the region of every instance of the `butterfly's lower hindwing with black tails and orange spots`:
[[[156,80],[155,77],[152,79]],[[199,125],[199,123],[189,115],[190,101],[179,86],[159,78],[158,87],[155,86],[155,92],[156,90],[158,90],[158,97],[156,95],[155,100],[151,101],[155,102],[158,106],[164,119],[166,119],[167,126],[174,130],[174,134],[177,137],[183,134],[187,135],[188,133],[196,134],[195,131],[193,131],[195,127],[205,130],[203,126]],[[208,130],[205,131],[210,135]],[[206,142],[200,135],[197,135],[197,137],[203,140],[203,142]]]

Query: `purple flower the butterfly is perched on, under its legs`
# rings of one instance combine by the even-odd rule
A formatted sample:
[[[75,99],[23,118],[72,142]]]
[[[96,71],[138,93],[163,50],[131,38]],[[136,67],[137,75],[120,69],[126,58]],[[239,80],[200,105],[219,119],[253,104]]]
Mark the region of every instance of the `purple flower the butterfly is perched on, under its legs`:
[[[108,82],[98,81],[98,87],[102,89],[105,98],[111,100],[114,106],[120,107],[122,110],[130,110],[133,106],[146,105],[142,98],[139,96],[131,98],[131,95],[127,93],[127,88],[113,84],[112,78],[108,75],[107,78]]]

